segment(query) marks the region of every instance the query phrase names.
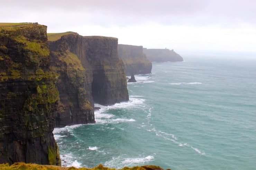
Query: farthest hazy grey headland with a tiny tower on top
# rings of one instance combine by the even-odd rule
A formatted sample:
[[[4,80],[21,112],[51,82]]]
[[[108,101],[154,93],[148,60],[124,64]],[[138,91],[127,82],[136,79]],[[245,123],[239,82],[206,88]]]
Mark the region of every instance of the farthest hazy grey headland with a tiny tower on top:
[[[147,55],[151,62],[176,62],[183,61],[183,58],[169,49],[146,49],[143,48],[143,52]]]

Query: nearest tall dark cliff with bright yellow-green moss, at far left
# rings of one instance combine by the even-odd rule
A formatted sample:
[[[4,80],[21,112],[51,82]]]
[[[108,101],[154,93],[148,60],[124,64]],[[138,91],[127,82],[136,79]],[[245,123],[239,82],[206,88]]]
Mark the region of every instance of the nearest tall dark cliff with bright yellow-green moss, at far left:
[[[49,70],[46,29],[0,26],[0,163],[61,165],[53,136],[57,75]]]

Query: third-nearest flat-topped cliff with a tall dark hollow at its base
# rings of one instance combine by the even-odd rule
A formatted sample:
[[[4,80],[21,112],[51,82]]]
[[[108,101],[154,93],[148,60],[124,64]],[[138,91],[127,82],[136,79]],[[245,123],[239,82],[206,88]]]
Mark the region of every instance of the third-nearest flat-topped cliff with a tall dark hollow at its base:
[[[112,105],[129,100],[124,63],[117,54],[118,39],[84,36],[83,43],[93,72],[94,102]]]

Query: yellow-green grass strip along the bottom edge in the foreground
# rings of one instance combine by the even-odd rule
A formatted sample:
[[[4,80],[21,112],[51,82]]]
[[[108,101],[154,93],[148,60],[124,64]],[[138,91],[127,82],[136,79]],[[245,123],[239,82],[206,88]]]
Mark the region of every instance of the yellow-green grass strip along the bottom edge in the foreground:
[[[32,163],[23,163],[18,162],[14,163],[11,166],[6,164],[0,164],[1,170],[116,170],[115,168],[103,167],[102,164],[99,164],[97,167],[93,168],[74,168],[74,167],[60,167],[54,165],[39,165]],[[145,165],[145,166],[136,166],[136,167],[124,167],[119,170],[163,170],[161,167],[154,165]],[[171,169],[167,169],[171,170]]]

